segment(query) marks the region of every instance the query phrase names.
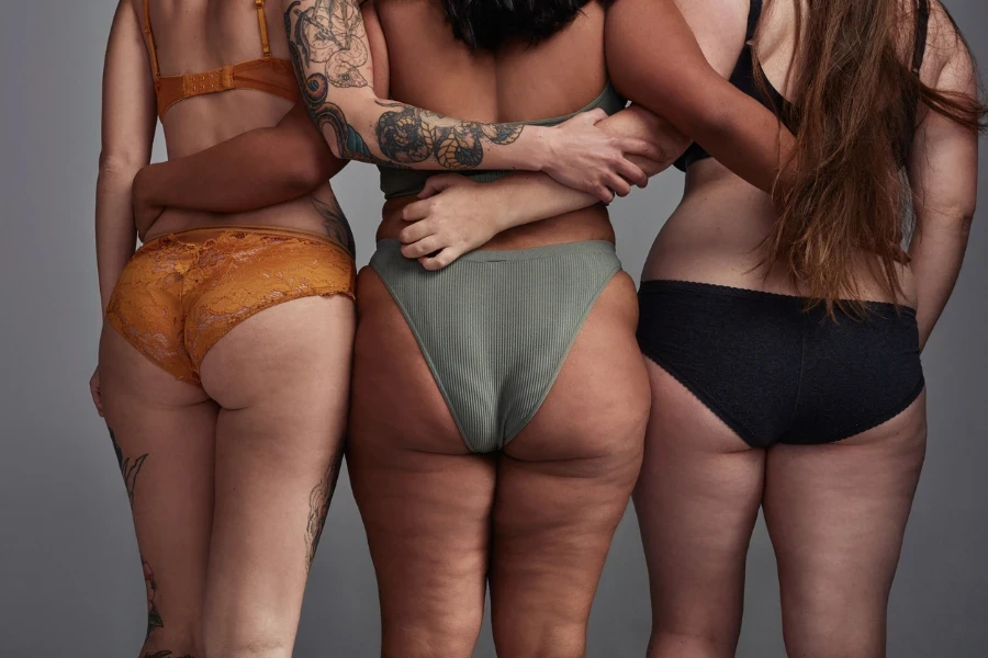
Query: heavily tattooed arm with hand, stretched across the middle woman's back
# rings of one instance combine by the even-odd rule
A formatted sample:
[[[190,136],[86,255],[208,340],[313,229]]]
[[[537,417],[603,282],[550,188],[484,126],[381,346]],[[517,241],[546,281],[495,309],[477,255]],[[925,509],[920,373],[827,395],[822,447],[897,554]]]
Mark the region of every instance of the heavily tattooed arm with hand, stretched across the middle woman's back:
[[[380,99],[358,0],[283,3],[302,97],[338,158],[413,169],[544,171],[602,198],[610,198],[607,189],[621,175],[644,181],[622,155],[647,155],[648,146],[604,135],[594,126],[599,113],[548,128],[460,121]]]

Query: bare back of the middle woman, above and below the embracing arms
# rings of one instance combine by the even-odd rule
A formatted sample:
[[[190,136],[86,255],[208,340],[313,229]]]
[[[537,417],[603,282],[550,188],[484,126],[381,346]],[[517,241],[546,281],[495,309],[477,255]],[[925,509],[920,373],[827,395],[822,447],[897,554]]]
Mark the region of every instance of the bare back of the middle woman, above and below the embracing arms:
[[[391,98],[463,120],[498,123],[562,116],[587,105],[607,84],[606,10],[588,3],[562,31],[529,47],[509,43],[496,52],[471,50],[458,41],[438,0],[374,0],[388,43]],[[384,205],[378,237],[396,237],[401,208],[414,197]],[[516,227],[485,249],[519,249],[575,240],[614,240],[602,206]]]

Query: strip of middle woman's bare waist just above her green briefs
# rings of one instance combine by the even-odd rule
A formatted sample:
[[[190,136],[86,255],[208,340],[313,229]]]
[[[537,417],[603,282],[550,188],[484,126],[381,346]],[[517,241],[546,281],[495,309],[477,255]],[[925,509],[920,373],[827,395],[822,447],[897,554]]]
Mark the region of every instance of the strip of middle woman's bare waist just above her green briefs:
[[[402,229],[409,224],[402,219],[402,211],[415,201],[417,201],[415,196],[403,196],[384,203],[383,219],[378,227],[377,240],[397,239]],[[607,208],[603,205],[515,226],[494,236],[478,251],[531,249],[562,242],[593,240],[610,243],[615,241],[614,227],[610,225]]]

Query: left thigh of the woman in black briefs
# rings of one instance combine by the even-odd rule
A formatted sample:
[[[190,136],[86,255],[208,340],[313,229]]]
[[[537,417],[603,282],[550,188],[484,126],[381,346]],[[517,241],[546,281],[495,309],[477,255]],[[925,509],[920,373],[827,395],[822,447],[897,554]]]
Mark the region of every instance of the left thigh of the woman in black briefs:
[[[765,452],[653,362],[635,491],[652,598],[649,656],[733,656]]]

